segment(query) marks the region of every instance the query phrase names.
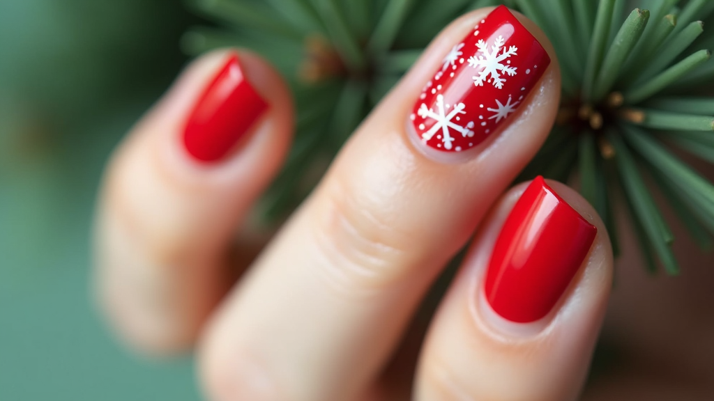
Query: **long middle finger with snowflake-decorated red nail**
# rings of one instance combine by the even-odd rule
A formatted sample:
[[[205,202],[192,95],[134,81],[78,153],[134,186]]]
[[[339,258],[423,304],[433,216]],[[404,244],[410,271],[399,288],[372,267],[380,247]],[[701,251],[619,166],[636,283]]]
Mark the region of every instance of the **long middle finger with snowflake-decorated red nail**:
[[[201,340],[213,399],[354,397],[388,359],[441,266],[536,153],[558,107],[553,49],[522,16],[527,29],[503,7],[490,11],[463,16],[433,41],[222,304]],[[493,77],[477,85],[485,57],[477,45],[493,53],[497,41],[518,53],[503,61],[513,75],[498,67],[502,88]],[[451,76],[441,71],[455,44],[463,55],[448,57]],[[517,111],[488,111],[497,100]],[[417,116],[422,104],[431,111]],[[427,139],[429,116],[442,111],[453,121]]]

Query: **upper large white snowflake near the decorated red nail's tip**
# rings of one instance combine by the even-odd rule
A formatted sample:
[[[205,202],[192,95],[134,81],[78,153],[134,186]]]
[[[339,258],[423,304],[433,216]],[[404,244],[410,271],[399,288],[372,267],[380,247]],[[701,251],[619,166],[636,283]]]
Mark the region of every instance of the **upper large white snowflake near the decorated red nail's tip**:
[[[516,75],[516,67],[511,67],[508,64],[501,64],[501,61],[504,61],[511,56],[516,56],[518,48],[516,46],[511,46],[508,50],[506,50],[506,48],[503,47],[503,53],[499,55],[498,52],[501,51],[503,42],[503,36],[498,36],[496,41],[493,43],[493,46],[491,46],[491,52],[488,51],[488,44],[486,44],[483,39],[480,39],[476,44],[478,51],[480,51],[483,56],[478,56],[477,58],[475,54],[468,58],[469,66],[472,66],[473,68],[483,67],[483,70],[478,73],[478,76],[473,76],[473,83],[476,86],[483,86],[483,81],[486,81],[486,78],[490,75],[491,79],[488,79],[488,82],[493,83],[493,86],[501,89],[503,88],[503,83],[506,82],[505,78],[501,78],[501,73],[506,73],[508,76]]]

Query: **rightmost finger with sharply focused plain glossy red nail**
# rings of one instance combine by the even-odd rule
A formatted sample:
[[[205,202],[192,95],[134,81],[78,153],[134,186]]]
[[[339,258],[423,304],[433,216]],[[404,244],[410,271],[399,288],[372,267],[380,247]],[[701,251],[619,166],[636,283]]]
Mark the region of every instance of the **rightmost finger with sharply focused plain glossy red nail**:
[[[540,177],[513,188],[433,320],[416,400],[575,400],[612,270],[605,225],[578,193]]]

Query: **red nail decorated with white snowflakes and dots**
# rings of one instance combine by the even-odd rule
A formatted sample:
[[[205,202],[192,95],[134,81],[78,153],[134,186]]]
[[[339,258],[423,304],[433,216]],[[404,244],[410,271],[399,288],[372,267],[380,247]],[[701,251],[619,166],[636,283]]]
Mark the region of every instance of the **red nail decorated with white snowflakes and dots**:
[[[444,57],[409,118],[422,143],[467,151],[523,103],[550,57],[506,6],[498,6]]]

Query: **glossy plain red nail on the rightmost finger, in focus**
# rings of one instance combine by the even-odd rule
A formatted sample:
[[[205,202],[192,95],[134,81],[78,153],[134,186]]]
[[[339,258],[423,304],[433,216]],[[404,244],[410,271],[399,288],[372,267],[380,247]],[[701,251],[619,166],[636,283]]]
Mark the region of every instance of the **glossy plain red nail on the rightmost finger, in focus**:
[[[486,273],[486,299],[503,318],[548,315],[578,272],[598,229],[538,177],[503,224]]]

